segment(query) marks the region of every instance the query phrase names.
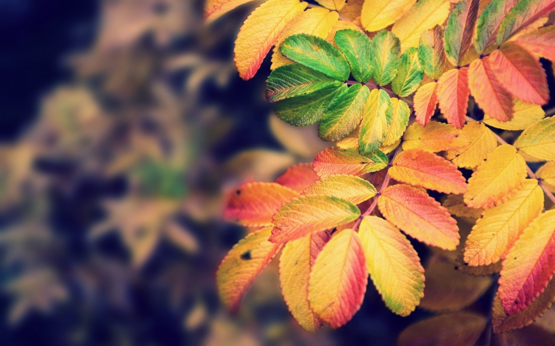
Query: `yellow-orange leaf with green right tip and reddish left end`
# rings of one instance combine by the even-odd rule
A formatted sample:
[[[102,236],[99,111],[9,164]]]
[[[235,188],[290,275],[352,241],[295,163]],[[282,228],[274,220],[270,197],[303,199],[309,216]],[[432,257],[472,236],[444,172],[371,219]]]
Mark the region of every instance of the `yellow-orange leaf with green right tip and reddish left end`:
[[[356,205],[329,196],[301,196],[285,203],[272,220],[271,242],[286,242],[356,220]]]

